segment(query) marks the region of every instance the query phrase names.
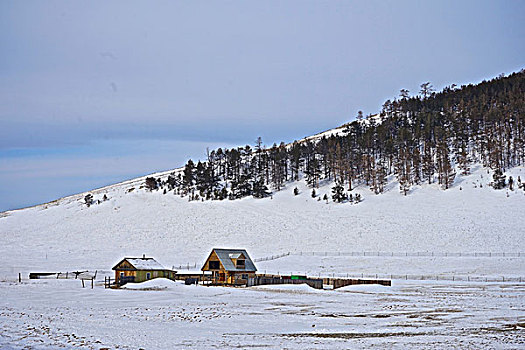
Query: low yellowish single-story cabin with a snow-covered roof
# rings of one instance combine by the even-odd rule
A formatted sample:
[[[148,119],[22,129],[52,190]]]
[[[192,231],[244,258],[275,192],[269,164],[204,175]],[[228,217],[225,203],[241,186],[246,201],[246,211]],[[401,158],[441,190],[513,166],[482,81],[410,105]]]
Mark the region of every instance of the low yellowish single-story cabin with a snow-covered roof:
[[[153,258],[124,258],[113,267],[115,283],[144,282],[157,277],[174,279],[177,271],[169,270]]]

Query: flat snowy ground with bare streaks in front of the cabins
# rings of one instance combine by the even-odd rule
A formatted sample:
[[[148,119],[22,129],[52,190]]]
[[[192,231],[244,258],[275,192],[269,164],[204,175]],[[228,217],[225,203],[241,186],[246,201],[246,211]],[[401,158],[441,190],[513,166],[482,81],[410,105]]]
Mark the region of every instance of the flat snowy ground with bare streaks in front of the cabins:
[[[169,282],[171,283],[171,282]],[[0,284],[1,348],[502,348],[525,346],[525,286],[394,281],[319,291]],[[137,288],[137,287],[135,287]]]

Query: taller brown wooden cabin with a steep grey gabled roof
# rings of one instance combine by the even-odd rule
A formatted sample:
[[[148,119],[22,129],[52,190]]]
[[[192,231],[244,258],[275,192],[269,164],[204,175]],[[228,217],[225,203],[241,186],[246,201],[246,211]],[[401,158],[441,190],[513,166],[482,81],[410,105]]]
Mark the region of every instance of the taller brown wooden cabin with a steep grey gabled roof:
[[[246,285],[257,271],[246,250],[219,248],[211,251],[201,270],[211,271],[213,283],[234,285]]]

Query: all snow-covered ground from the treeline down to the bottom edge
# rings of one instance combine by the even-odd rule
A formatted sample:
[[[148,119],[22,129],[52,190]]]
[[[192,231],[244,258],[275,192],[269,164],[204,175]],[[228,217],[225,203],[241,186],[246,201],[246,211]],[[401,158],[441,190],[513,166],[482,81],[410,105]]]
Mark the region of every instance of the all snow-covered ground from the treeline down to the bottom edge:
[[[0,348],[524,348],[525,193],[495,191],[474,170],[447,191],[358,188],[357,205],[317,201],[301,183],[298,196],[293,184],[271,199],[223,202],[127,193],[128,183],[99,190],[109,200],[90,208],[78,195],[1,213]],[[511,174],[525,179],[523,168]],[[124,256],[199,270],[212,247],[256,259],[290,252],[256,262],[260,272],[394,280],[335,291],[103,287]],[[27,280],[79,270],[97,271],[94,289]]]

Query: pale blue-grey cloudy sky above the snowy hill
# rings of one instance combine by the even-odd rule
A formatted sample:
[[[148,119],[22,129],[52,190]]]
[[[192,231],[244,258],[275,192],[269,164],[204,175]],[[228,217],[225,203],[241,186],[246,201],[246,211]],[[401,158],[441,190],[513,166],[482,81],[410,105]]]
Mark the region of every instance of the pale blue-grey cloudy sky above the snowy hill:
[[[525,68],[523,1],[0,1],[0,211]]]

